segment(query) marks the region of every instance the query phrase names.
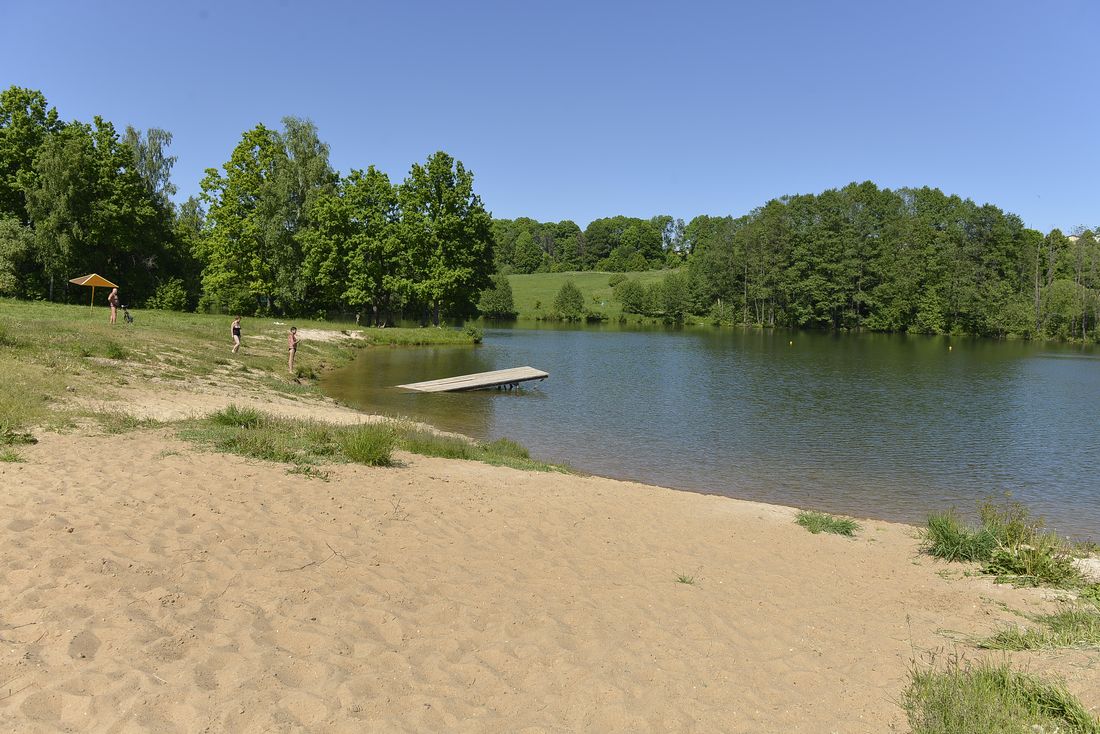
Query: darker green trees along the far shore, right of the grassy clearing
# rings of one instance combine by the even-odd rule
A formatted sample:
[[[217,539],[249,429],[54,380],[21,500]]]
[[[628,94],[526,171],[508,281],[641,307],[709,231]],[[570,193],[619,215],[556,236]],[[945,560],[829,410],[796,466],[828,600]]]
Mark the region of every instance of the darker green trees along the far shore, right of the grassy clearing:
[[[616,217],[584,231],[568,224],[494,221],[497,241],[505,232],[516,245],[497,250],[497,266],[528,272],[538,261],[541,272],[568,270],[576,261],[558,260],[554,253],[563,252],[586,253],[581,262],[592,262],[598,256],[587,240],[593,230],[604,243],[597,270],[674,269],[649,286],[613,275],[627,314],[672,322],[694,315],[744,326],[1100,339],[1100,243],[1092,230],[1043,234],[1016,215],[935,188],[891,190],[865,182],[777,198],[743,217],[698,216],[686,224]],[[642,251],[639,238],[625,234],[647,227],[651,249]],[[553,239],[558,232],[565,232],[564,244]],[[612,237],[600,239],[605,232]],[[528,241],[540,249],[540,261],[515,258]],[[509,252],[513,260],[502,262]]]

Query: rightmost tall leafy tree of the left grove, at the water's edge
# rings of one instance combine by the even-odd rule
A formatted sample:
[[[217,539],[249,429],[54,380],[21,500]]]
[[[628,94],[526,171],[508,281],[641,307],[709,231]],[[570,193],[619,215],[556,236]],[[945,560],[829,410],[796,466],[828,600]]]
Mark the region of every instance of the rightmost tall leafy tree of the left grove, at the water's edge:
[[[493,272],[492,228],[473,174],[442,151],[414,164],[398,189],[400,239],[417,266],[414,296],[440,314],[473,313]]]

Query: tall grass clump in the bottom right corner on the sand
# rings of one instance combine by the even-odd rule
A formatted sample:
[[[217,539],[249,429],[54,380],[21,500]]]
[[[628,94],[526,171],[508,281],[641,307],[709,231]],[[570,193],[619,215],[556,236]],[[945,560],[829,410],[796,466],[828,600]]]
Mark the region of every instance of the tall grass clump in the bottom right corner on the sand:
[[[913,734],[1100,734],[1100,721],[1062,683],[1004,662],[914,666],[902,706]]]

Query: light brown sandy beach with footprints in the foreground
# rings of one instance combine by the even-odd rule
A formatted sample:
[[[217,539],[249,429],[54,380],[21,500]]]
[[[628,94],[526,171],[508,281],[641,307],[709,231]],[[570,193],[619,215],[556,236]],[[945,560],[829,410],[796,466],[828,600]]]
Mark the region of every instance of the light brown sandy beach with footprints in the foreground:
[[[921,556],[908,526],[815,536],[791,508],[601,478],[402,454],[324,482],[170,429],[20,451],[2,731],[908,731],[914,659],[980,657],[1056,604]],[[1011,659],[1100,708],[1094,653]]]

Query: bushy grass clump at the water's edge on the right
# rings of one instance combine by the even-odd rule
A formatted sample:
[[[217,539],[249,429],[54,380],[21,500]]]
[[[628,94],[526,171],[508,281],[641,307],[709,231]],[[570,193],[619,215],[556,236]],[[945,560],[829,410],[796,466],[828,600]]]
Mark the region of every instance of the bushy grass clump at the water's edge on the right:
[[[1019,502],[982,503],[981,525],[970,527],[954,512],[928,517],[924,551],[948,561],[982,563],[982,572],[1019,585],[1070,587],[1080,583],[1074,550],[1043,528]]]

